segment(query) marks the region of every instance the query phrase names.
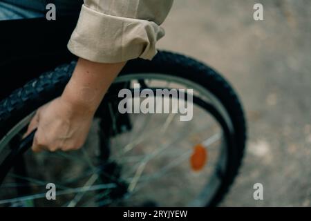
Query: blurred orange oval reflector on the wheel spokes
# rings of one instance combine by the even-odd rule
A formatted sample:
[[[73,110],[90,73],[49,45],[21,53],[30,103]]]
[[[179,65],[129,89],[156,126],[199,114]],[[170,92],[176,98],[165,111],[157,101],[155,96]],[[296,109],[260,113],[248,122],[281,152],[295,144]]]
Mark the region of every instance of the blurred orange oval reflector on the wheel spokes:
[[[202,144],[194,146],[194,153],[190,158],[191,169],[193,171],[201,171],[205,164],[207,164],[208,153]]]

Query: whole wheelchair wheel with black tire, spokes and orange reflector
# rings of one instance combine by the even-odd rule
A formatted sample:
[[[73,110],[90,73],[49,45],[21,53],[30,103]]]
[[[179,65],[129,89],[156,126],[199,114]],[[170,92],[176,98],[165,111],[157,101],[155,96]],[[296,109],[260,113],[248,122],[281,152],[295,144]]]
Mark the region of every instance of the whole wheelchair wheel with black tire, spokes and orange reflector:
[[[59,66],[0,102],[0,206],[216,206],[223,199],[243,159],[243,108],[215,70],[171,52],[129,61],[98,108],[81,150],[27,151],[5,171],[2,163],[32,115],[61,95],[74,68],[75,61]],[[173,111],[119,113],[122,88],[134,95],[191,88],[193,118],[180,121]],[[187,102],[154,96],[171,110]],[[133,104],[141,100],[131,98]],[[56,200],[46,198],[50,183]]]

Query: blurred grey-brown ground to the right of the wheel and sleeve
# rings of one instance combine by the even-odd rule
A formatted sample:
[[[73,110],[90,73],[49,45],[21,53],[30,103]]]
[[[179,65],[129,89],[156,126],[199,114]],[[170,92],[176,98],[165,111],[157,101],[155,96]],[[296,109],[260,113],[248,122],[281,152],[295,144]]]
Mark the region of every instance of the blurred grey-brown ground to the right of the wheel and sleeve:
[[[311,206],[310,21],[308,0],[176,0],[163,24],[159,48],[216,68],[245,108],[247,152],[220,206]]]

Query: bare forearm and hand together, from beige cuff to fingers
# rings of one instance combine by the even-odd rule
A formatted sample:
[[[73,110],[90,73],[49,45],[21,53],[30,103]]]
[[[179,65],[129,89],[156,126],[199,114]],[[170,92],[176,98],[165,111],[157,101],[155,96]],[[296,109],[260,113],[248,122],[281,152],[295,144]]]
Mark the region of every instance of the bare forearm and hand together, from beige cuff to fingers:
[[[96,109],[126,62],[100,64],[79,59],[61,97],[38,109],[24,137],[35,128],[32,150],[71,151],[82,147]]]

